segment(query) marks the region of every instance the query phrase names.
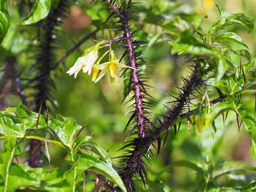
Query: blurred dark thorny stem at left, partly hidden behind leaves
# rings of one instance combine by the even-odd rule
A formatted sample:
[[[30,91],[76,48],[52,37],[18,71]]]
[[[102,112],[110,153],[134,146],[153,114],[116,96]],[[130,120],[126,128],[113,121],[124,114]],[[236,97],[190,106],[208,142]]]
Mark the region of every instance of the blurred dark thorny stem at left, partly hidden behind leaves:
[[[60,9],[62,9],[62,6],[67,3],[67,0],[62,0],[58,7],[51,10],[49,15],[47,16],[47,19],[45,21],[45,33],[42,37],[42,53],[39,55],[38,62],[36,65],[39,65],[38,67],[38,73],[40,74],[37,78],[38,84],[36,86],[36,89],[38,92],[35,95],[35,105],[36,105],[36,111],[39,113],[43,113],[47,109],[46,101],[49,99],[49,79],[50,79],[50,73],[51,73],[51,51],[52,51],[52,42],[53,37],[52,33],[54,30],[54,27],[58,23],[58,17],[61,17]],[[60,14],[60,15],[59,15]],[[40,110],[42,106],[42,111]],[[41,156],[41,141],[36,139],[30,140],[30,157],[28,159],[28,164],[31,167],[39,167],[40,163],[40,156]]]

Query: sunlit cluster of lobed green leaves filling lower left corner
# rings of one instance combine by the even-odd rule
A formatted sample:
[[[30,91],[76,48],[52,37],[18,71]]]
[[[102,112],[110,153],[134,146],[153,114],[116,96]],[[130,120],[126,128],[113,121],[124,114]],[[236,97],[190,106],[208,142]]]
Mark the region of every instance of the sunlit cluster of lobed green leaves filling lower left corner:
[[[36,190],[82,191],[86,171],[98,172],[116,183],[126,191],[124,184],[112,167],[107,152],[91,137],[81,137],[83,127],[77,125],[71,117],[58,116],[58,119],[48,118],[25,106],[8,108],[1,113],[1,138],[4,139],[5,152],[2,156],[1,177],[3,191],[13,191],[19,188]],[[47,145],[53,143],[66,149],[61,157],[68,165],[67,170],[59,167],[52,169],[31,169],[26,165],[13,163],[20,154],[20,145],[27,139],[37,139],[44,142],[46,156],[50,163]],[[59,175],[58,178],[56,174]],[[35,178],[35,175],[37,177]]]

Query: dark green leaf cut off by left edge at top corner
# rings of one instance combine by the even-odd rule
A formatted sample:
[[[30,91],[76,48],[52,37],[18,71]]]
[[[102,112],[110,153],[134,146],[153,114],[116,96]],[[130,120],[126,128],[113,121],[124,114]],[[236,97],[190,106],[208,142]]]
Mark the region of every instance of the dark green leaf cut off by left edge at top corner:
[[[7,0],[0,2],[0,43],[2,43],[10,27],[10,18],[7,11]]]

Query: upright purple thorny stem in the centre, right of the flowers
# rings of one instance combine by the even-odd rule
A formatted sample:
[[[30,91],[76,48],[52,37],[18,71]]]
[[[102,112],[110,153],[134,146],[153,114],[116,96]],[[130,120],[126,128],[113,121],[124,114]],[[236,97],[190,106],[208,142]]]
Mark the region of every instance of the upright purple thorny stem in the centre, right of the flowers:
[[[133,43],[132,43],[132,37],[131,37],[132,33],[129,27],[129,23],[127,22],[127,20],[123,19],[123,15],[118,10],[117,6],[113,3],[113,1],[107,0],[107,3],[112,7],[113,11],[120,18],[124,27],[124,37],[126,38],[127,45],[128,45],[130,65],[133,68],[132,81],[134,84],[133,91],[135,94],[135,106],[136,106],[136,112],[137,112],[136,116],[138,118],[137,126],[139,131],[139,137],[144,138],[145,137],[145,115],[144,115],[143,101],[142,101],[142,95],[140,90],[140,79],[138,76],[137,62],[134,55],[134,49],[133,49]]]

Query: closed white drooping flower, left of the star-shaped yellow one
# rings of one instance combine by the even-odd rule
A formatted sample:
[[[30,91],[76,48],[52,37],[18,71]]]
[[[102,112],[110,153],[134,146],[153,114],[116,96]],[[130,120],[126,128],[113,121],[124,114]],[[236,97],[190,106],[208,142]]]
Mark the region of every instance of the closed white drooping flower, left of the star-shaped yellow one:
[[[67,74],[74,74],[76,78],[79,71],[83,69],[83,73],[88,72],[88,74],[91,75],[94,63],[97,61],[99,56],[99,47],[104,43],[106,43],[106,41],[101,41],[98,44],[86,49],[83,55],[76,60],[75,65],[67,71]]]

